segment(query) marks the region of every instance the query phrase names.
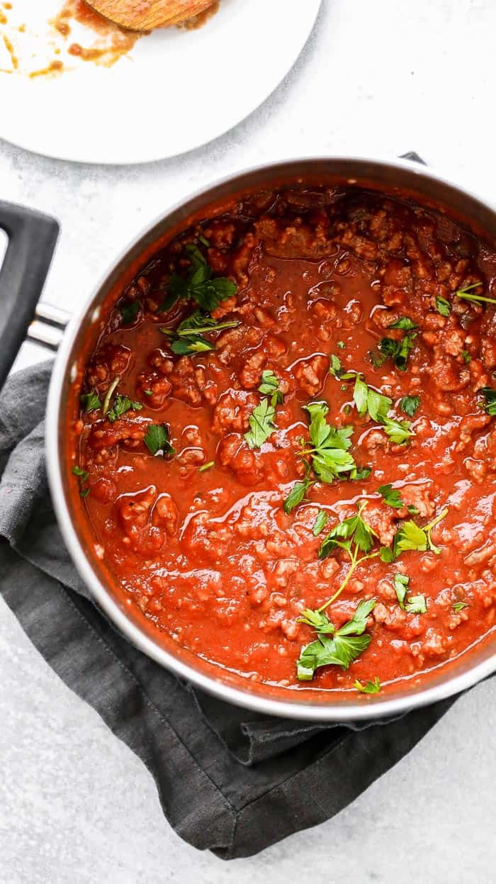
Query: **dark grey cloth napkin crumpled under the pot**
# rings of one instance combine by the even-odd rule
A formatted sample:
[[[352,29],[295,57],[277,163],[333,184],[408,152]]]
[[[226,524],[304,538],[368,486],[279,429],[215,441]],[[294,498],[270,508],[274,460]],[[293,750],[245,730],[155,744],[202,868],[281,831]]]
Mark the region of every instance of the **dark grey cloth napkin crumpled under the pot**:
[[[449,699],[369,726],[250,713],[159,667],[95,607],[50,503],[43,414],[51,362],[0,398],[0,591],[34,646],[148,767],[166,818],[218,857],[248,857],[353,801],[439,720]]]

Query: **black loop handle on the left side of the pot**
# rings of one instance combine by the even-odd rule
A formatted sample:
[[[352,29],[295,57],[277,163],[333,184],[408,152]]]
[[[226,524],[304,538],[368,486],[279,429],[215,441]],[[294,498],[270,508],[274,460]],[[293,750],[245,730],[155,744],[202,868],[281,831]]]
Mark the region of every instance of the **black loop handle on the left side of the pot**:
[[[26,337],[58,237],[55,218],[0,200],[7,250],[0,267],[0,387]]]

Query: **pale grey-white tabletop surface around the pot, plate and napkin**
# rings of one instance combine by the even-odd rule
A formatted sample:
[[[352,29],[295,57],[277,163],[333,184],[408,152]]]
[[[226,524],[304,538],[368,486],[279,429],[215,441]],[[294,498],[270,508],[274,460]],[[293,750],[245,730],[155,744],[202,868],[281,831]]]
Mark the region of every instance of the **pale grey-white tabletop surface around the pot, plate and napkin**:
[[[286,81],[241,126],[187,156],[90,167],[0,141],[2,198],[62,222],[44,298],[76,309],[150,217],[200,183],[271,158],[415,149],[496,199],[495,27],[493,0],[324,0]],[[165,109],[157,92],[157,112]],[[27,344],[17,367],[39,358]],[[225,865],[172,832],[141,762],[57,679],[3,605],[0,667],[2,884],[262,884],[268,873],[274,884],[494,880],[496,680],[459,700],[338,818]]]

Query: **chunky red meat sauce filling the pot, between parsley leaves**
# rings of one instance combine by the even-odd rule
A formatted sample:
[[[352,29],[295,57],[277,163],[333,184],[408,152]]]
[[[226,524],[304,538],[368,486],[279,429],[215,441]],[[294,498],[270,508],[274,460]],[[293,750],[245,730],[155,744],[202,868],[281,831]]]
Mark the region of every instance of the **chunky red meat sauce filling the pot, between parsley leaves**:
[[[195,305],[159,308],[172,272],[189,270],[187,242],[214,276],[236,282],[213,316],[240,324],[210,333],[215,350],[179,356],[161,327],[176,328]],[[479,391],[494,383],[496,325],[492,304],[454,292],[480,282],[475,291],[494,297],[495,274],[496,253],[446,216],[351,187],[257,194],[180,234],[111,310],[84,378],[83,391],[103,401],[118,376],[117,392],[142,406],[114,423],[101,409],[81,413],[77,427],[83,506],[119,594],[203,659],[300,690],[424,677],[486,636],[496,613],[496,429]],[[437,297],[449,301],[449,316]],[[139,310],[124,324],[121,310],[133,301]],[[388,329],[400,316],[418,326],[407,370],[391,360],[374,367],[378,341],[404,335]],[[330,354],[389,396],[397,418],[405,419],[401,397],[420,396],[409,444],[394,445],[358,415],[353,382],[332,377]],[[276,429],[250,449],[244,433],[263,399],[263,370],[279,378],[284,400]],[[371,472],[317,482],[286,514],[283,501],[305,473],[310,400],[327,401],[329,423],[353,426],[350,453]],[[169,428],[175,456],[152,456],[143,443],[150,423]],[[447,507],[431,534],[440,553],[357,568],[327,614],[338,628],[362,599],[376,598],[368,649],[347,670],[325,666],[298,682],[301,647],[315,638],[301,612],[323,605],[349,568],[339,549],[317,557],[325,531],[366,501],[362,518],[391,545],[412,515],[385,504],[378,486],[389,483],[421,526]],[[314,537],[321,509],[329,518]],[[397,573],[410,576],[411,594],[424,594],[427,613],[401,609]]]

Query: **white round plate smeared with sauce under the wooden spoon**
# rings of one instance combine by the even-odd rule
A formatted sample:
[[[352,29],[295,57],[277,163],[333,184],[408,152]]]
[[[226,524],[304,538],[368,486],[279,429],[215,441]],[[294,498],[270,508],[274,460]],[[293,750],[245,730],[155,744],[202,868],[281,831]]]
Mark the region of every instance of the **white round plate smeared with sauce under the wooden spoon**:
[[[78,60],[52,77],[0,72],[0,137],[81,163],[144,163],[197,148],[271,95],[305,45],[320,3],[221,0],[203,27],[142,37],[110,68]],[[16,34],[11,20],[0,25],[0,38],[11,27],[26,69],[20,53],[27,56],[29,41],[36,65],[55,57],[46,41],[40,55],[40,30],[61,0],[36,0],[35,9],[33,0],[17,0],[19,21],[23,4],[33,34]],[[0,69],[7,63],[0,53]]]

